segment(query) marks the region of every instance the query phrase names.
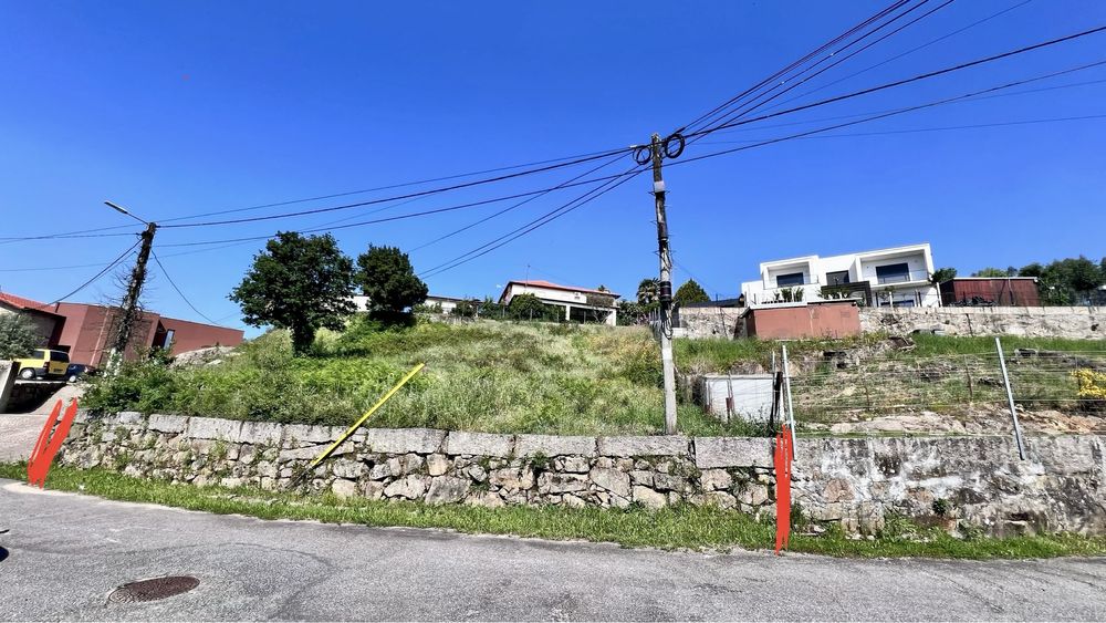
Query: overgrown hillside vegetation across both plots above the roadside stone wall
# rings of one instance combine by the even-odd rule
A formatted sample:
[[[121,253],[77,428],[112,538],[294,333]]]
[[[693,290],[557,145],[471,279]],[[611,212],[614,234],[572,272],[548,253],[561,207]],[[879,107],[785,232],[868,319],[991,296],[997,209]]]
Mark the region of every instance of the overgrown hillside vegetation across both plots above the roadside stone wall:
[[[789,342],[800,424],[1004,405],[993,339],[916,335],[914,341],[908,350],[890,347],[879,334]],[[1102,404],[1094,397],[1100,383],[1076,374],[1077,362],[1014,355],[1016,349],[1086,353],[1079,361],[1106,366],[1094,353],[1104,350],[1102,342],[1005,338],[1003,346],[1015,398],[1030,408]],[[754,373],[770,370],[780,344],[677,340],[675,350],[681,374]],[[660,361],[647,329],[491,321],[383,324],[365,314],[344,331],[321,330],[304,356],[294,354],[288,332],[273,331],[219,365],[128,363],[117,377],[94,380],[84,404],[103,412],[348,425],[417,363],[426,363],[426,371],[371,426],[562,435],[662,430]],[[763,426],[739,418],[723,425],[691,404],[687,393],[680,397],[684,434],[765,434]]]

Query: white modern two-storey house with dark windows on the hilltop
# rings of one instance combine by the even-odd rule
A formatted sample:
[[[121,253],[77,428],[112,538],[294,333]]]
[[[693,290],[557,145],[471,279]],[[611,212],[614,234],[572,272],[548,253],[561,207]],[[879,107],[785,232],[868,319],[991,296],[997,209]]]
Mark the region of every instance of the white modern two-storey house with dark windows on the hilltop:
[[[940,305],[929,279],[929,243],[859,253],[805,256],[760,264],[760,279],[741,284],[749,307],[853,299],[869,307]]]

